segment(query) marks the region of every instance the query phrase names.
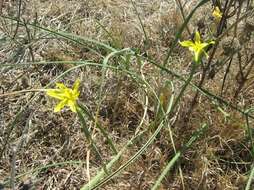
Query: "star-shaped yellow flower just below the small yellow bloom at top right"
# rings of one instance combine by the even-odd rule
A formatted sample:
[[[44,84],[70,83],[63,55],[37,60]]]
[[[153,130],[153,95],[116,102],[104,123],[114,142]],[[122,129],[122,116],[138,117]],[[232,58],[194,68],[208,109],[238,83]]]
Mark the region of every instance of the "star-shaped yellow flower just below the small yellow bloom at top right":
[[[202,43],[201,40],[200,40],[200,34],[199,34],[199,32],[196,32],[195,33],[194,41],[187,40],[187,41],[183,41],[183,42],[179,42],[179,43],[183,47],[188,47],[189,50],[194,53],[194,61],[196,63],[199,63],[199,61],[200,61],[200,59],[201,59],[203,54],[205,54],[206,57],[208,57],[208,55],[207,55],[207,53],[205,51],[205,48],[207,46],[209,46],[210,44],[214,44],[215,42],[214,41],[210,41],[210,42],[204,42],[204,43]]]

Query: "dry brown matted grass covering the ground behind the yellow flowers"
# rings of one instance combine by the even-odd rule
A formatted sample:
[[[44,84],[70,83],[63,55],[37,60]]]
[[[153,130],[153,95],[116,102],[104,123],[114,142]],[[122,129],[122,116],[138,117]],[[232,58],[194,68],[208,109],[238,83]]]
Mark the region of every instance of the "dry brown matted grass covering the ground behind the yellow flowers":
[[[142,56],[152,57],[159,64],[163,63],[167,50],[174,41],[175,33],[182,24],[180,10],[174,1],[169,0],[135,1],[136,11],[144,25],[147,39],[131,1],[21,2],[21,18],[25,22],[35,22],[55,31],[95,39],[116,49],[135,48]],[[188,1],[185,4],[185,15],[188,15],[189,10],[196,3],[197,1]],[[17,7],[18,2],[3,1],[2,14],[15,18]],[[198,28],[200,17],[204,19],[206,30],[209,26],[213,27],[210,3],[199,10],[188,24],[191,31]],[[234,19],[235,17],[230,21],[233,23]],[[102,56],[105,57],[109,53],[94,44],[78,44],[34,27],[20,26],[15,38],[11,39],[16,24],[11,25],[10,20],[3,18],[1,23],[1,64],[16,65],[16,67],[0,66],[1,94],[44,88],[61,73],[75,67],[75,63],[32,65],[30,64],[32,62],[88,60],[102,63]],[[237,38],[242,35],[241,29],[244,30],[244,22],[240,24]],[[228,35],[232,34],[233,30],[228,32]],[[241,50],[243,59],[253,56],[253,33],[251,35],[252,38],[247,39],[246,42],[240,41],[241,47],[244,46],[244,50]],[[204,36],[207,36],[207,31],[204,32]],[[182,39],[188,38],[188,32],[185,30]],[[208,71],[210,78],[207,77],[202,85],[213,94],[221,95],[227,64],[220,65],[219,62],[227,57],[229,56],[226,55],[225,48],[223,49],[220,44],[212,67]],[[166,67],[187,78],[190,72],[190,60],[189,52],[177,45]],[[238,61],[238,57],[234,56],[222,98],[241,109],[247,109],[253,106],[254,101],[253,69],[250,69],[248,80],[236,94],[242,84],[239,79]],[[29,64],[18,67],[25,63]],[[141,66],[138,59],[133,58],[128,66],[115,57],[111,59],[110,64],[124,69],[128,67],[130,72],[143,78],[165,101],[173,93],[178,94],[183,85],[183,81],[162,73],[160,68],[150,64],[149,61],[143,61]],[[98,114],[99,122],[119,150],[137,132],[146,130],[154,120],[158,119],[156,110],[158,101],[152,90],[144,87],[142,82],[133,76],[108,69],[104,81],[101,81],[101,68],[87,66],[75,69],[60,79],[69,86],[76,78],[81,80],[80,101],[91,113]],[[192,82],[198,84],[201,76],[202,67],[197,70]],[[166,81],[173,82],[174,92],[165,85]],[[102,94],[99,93],[100,90]],[[253,162],[244,115],[230,106],[223,106],[221,102],[211,101],[203,95],[198,96],[197,104],[191,107],[195,94],[194,88],[188,88],[174,112],[174,117],[171,118],[176,149],[179,150],[202,123],[209,124],[209,129],[204,137],[184,153],[170,174],[165,177],[161,189],[244,189]],[[5,147],[0,149],[0,184],[3,184],[5,189],[11,188],[13,183],[15,189],[81,188],[97,173],[102,162],[90,150],[75,114],[69,110],[55,114],[52,111],[54,101],[42,93],[35,98],[33,95],[34,92],[0,96],[0,147]],[[15,125],[10,125],[20,108],[24,106],[26,106],[25,111],[17,118]],[[146,108],[147,112],[143,118]],[[230,116],[225,117],[224,112]],[[137,128],[141,121],[143,124]],[[252,130],[253,120],[250,118],[249,122]],[[92,136],[102,153],[104,162],[110,161],[113,153],[105,137],[94,128],[93,121],[87,120],[87,124],[92,129]],[[146,143],[154,130],[149,130],[128,148],[114,169],[133,156]],[[166,127],[138,160],[101,189],[150,189],[173,156],[174,148],[170,140],[170,131]],[[182,175],[179,174],[179,168]],[[15,182],[11,183],[9,179],[13,180],[13,175],[16,178]]]

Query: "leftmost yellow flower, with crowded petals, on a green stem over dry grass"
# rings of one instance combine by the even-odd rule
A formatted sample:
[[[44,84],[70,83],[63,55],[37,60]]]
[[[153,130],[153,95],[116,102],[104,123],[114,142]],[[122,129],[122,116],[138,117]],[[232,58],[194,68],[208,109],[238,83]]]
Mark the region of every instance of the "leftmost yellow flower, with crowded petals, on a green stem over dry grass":
[[[78,91],[80,81],[76,80],[73,89],[67,88],[63,83],[56,83],[58,89],[47,89],[47,95],[60,100],[54,108],[54,112],[59,112],[64,106],[70,107],[71,111],[77,112],[77,99],[80,92]]]

